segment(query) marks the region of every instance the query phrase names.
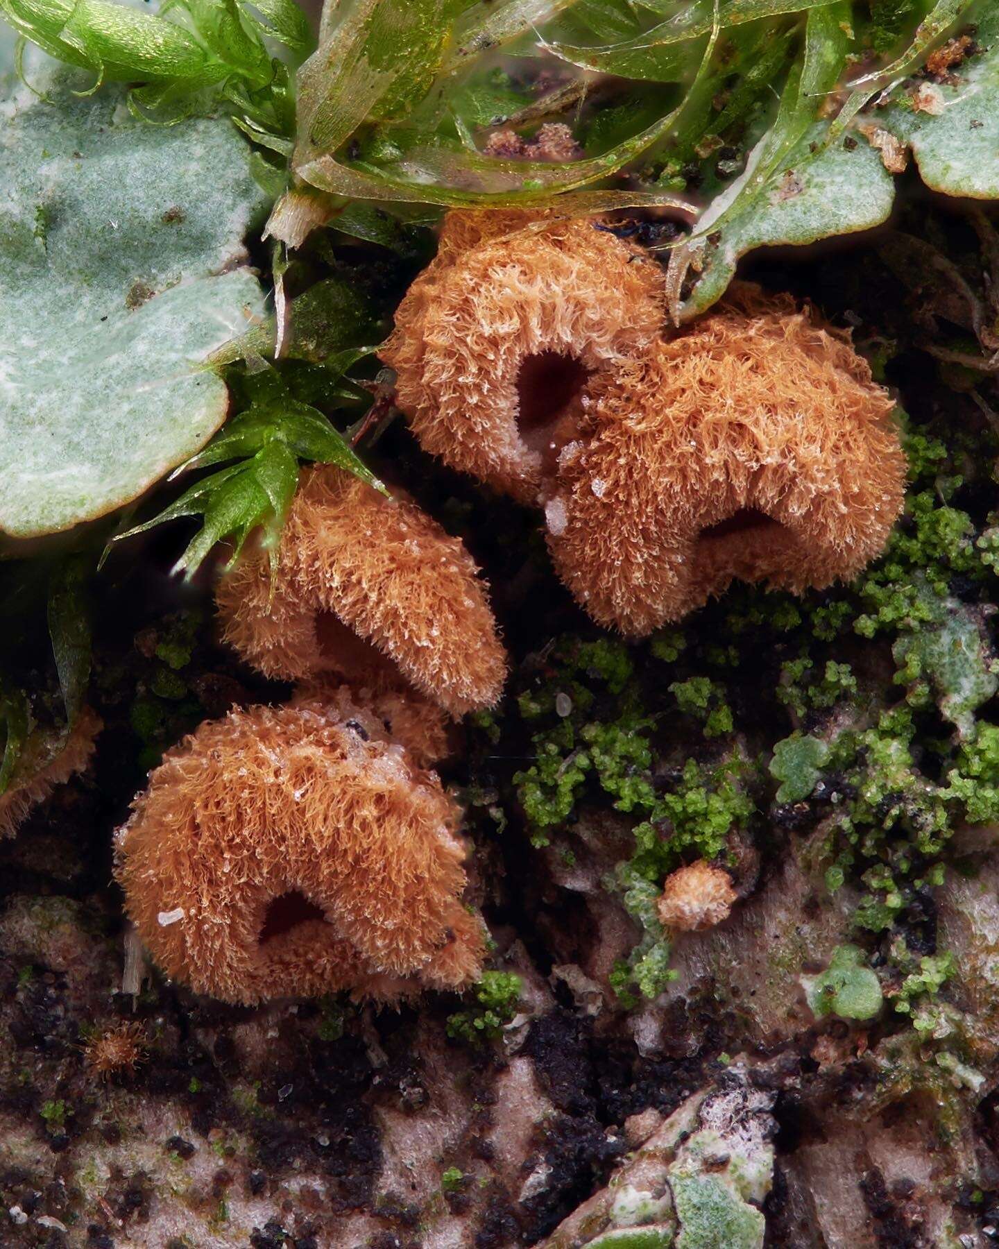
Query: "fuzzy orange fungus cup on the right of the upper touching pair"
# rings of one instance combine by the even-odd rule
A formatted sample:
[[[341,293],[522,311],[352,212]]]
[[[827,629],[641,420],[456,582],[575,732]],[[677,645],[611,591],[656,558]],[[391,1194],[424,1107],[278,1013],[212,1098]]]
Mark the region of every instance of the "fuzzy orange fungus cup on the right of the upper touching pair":
[[[547,502],[556,568],[596,621],[639,637],[734,578],[849,580],[903,503],[892,406],[845,335],[734,289],[594,392]]]

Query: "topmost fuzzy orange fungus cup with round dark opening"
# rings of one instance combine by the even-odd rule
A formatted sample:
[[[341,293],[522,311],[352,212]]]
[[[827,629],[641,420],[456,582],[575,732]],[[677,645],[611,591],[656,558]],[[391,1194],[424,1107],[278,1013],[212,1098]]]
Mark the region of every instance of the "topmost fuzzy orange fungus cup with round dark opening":
[[[426,451],[533,502],[662,316],[659,266],[593,221],[452,212],[381,356]]]

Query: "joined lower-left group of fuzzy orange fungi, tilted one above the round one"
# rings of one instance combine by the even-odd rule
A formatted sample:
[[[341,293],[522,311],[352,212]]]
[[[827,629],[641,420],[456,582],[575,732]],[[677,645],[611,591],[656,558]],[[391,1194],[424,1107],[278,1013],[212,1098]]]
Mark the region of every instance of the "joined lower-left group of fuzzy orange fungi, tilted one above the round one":
[[[217,588],[222,634],[283,707],[232,711],[169,751],[117,839],[142,943],[227,1002],[455,989],[485,953],[461,812],[430,767],[448,713],[506,678],[477,570],[401,497],[302,473],[277,555]]]

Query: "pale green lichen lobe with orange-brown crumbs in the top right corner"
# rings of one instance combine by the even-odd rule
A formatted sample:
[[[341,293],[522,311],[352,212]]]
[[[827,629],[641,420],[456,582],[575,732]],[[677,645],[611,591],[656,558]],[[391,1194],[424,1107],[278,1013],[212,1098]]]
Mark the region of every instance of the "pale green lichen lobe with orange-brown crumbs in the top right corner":
[[[975,42],[980,51],[954,67],[955,82],[923,84],[918,94],[903,90],[889,109],[878,114],[878,122],[909,144],[923,181],[935,191],[995,200],[999,6],[982,9]]]

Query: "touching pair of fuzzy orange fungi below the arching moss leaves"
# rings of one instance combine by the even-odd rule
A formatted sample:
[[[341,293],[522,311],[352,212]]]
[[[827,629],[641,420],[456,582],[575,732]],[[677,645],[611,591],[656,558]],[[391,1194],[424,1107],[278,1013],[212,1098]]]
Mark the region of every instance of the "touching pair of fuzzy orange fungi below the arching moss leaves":
[[[746,284],[668,333],[663,287],[602,222],[452,214],[382,351],[422,446],[543,508],[564,583],[633,637],[734,578],[853,577],[905,478],[845,335]]]

